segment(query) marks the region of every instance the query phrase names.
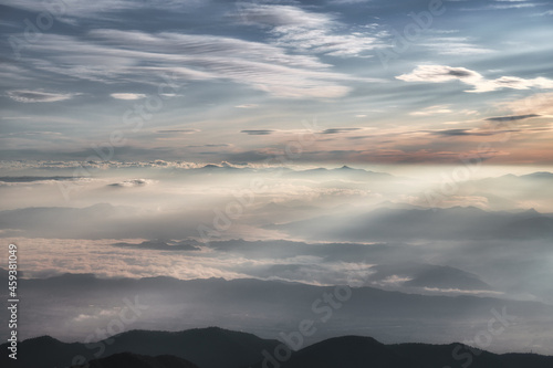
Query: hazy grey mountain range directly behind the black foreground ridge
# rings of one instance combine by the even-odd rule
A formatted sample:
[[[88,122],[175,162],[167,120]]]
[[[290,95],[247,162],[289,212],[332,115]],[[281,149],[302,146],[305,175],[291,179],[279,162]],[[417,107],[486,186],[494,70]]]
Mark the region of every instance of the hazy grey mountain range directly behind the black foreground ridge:
[[[319,325],[317,335],[306,339],[307,344],[344,334],[371,334],[375,338],[385,338],[387,341],[416,340],[420,336],[424,336],[426,341],[441,341],[445,330],[449,330],[448,337],[451,341],[473,334],[474,324],[478,325],[491,318],[493,315],[490,311],[493,309],[497,313],[505,311],[508,315],[515,316],[520,326],[512,329],[508,336],[502,336],[501,340],[498,339],[495,346],[502,349],[517,348],[520,339],[526,338],[530,329],[536,329],[538,332],[533,333],[535,338],[544,339],[543,344],[545,344],[547,329],[553,326],[553,306],[539,302],[468,295],[430,296],[374,287],[351,287],[351,297],[347,302],[341,302],[340,308],[332,311],[322,297],[334,295],[335,286],[248,278],[182,281],[171,277],[147,277],[135,280],[65,274],[50,278],[24,280],[20,291],[25,296],[25,303],[22,304],[25,319],[22,319],[21,325],[18,326],[22,336],[48,330],[63,336],[64,339],[80,339],[86,334],[93,334],[95,326],[104,328],[108,326],[113,314],[106,315],[104,311],[121,311],[124,316],[134,317],[133,309],[125,312],[125,308],[128,303],[135,303],[135,301],[147,308],[140,309],[136,322],[126,328],[147,329],[158,326],[157,328],[179,330],[201,325],[225,328],[240,326],[246,332],[275,336],[275,330],[293,330],[298,328],[299,320],[312,316]],[[342,293],[346,292],[347,290],[342,291]],[[319,304],[314,305],[316,301]],[[63,309],[60,309],[61,303],[63,303]],[[323,323],[322,319],[328,318],[328,315],[333,317]],[[72,324],[79,329],[69,330],[71,335],[59,327],[72,326]],[[222,346],[228,345],[227,338],[230,338],[228,334],[200,332],[196,334],[205,336],[202,338],[206,340],[212,339],[206,336],[215,335]],[[122,334],[118,343],[107,344],[107,353],[127,351],[128,347],[136,346],[133,343],[135,338],[148,339],[144,336],[145,333],[128,334]],[[159,334],[161,334],[160,337],[156,338],[159,345],[144,343],[139,345],[142,347],[139,350],[131,353],[175,354],[174,349],[178,348],[180,351],[179,347],[185,344],[181,341],[186,341],[186,336],[180,336],[177,333],[176,335]],[[103,337],[95,335],[95,338],[102,339]],[[164,340],[165,338],[167,340]],[[198,338],[195,337],[195,340]],[[174,339],[177,340],[176,345],[170,343]],[[242,345],[246,346],[254,346],[254,341],[242,337],[237,337],[237,340],[244,341]],[[2,348],[4,347],[0,347]],[[54,348],[55,346],[51,350],[54,351]],[[217,344],[211,349],[222,351],[220,345]],[[544,351],[547,351],[545,347]],[[212,359],[220,355],[213,354]],[[192,357],[181,357],[202,366]]]

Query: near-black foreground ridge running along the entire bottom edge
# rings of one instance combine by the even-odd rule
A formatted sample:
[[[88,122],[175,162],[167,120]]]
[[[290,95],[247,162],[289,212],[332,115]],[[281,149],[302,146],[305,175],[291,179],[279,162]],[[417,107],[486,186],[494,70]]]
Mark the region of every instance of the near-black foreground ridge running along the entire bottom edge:
[[[7,350],[7,344],[1,347]],[[372,337],[330,338],[299,351],[278,340],[218,327],[178,333],[132,330],[88,345],[43,336],[20,343],[10,368],[551,368],[553,356],[492,354],[462,344],[384,345]]]

